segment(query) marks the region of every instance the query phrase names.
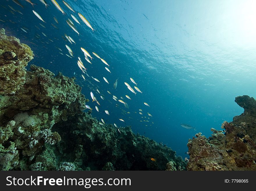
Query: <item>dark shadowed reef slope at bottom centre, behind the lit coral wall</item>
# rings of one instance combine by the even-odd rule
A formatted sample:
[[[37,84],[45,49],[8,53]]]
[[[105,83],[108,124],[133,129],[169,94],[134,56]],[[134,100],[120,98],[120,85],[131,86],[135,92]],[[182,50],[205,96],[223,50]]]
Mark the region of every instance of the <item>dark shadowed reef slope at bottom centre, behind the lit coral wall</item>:
[[[62,160],[83,170],[166,170],[169,161],[185,169],[186,162],[169,147],[134,134],[130,126],[119,127],[119,133],[115,126],[100,125],[88,113],[76,114],[68,123],[59,122],[52,129],[62,140],[69,140],[56,145],[59,153],[65,153]]]

